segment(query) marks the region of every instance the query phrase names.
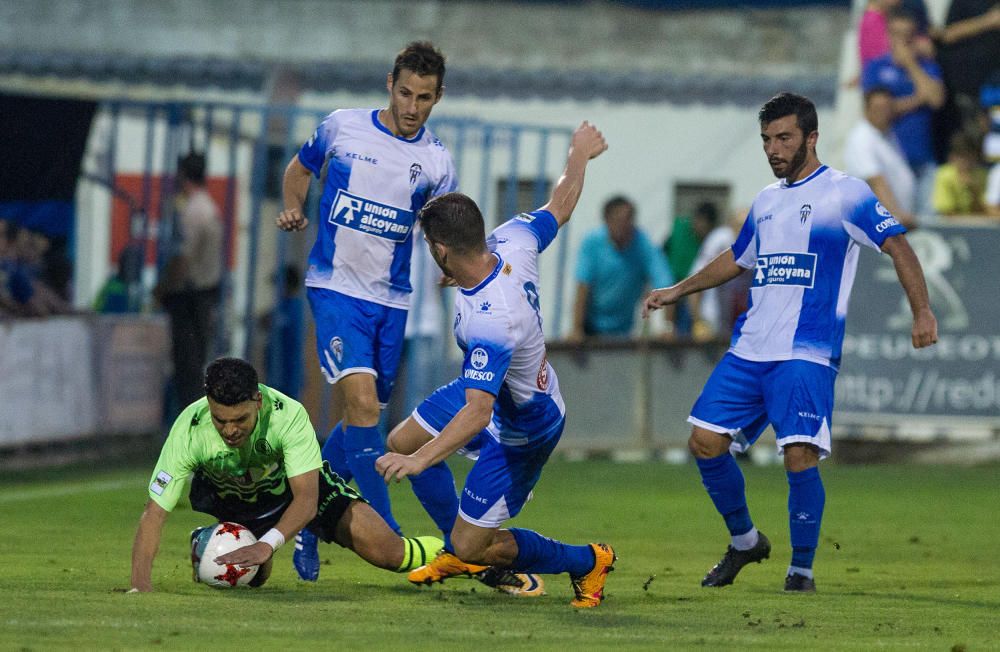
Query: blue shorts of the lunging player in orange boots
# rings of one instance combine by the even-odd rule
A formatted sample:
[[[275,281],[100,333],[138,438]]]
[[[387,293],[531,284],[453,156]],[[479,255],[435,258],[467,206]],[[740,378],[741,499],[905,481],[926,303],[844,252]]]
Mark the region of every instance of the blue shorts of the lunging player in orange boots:
[[[438,388],[413,411],[413,418],[435,437],[465,405],[459,380]],[[499,527],[520,513],[542,474],[542,467],[559,443],[565,419],[546,428],[538,438],[513,445],[501,443],[496,420],[459,452],[476,460],[459,500],[459,515],[479,527]],[[524,441],[516,438],[509,441]]]

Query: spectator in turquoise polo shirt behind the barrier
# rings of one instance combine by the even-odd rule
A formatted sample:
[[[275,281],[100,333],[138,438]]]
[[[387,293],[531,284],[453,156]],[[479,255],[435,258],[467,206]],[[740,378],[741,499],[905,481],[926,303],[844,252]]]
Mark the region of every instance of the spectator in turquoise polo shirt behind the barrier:
[[[662,252],[636,228],[631,201],[623,196],[608,200],[604,223],[584,237],[577,255],[572,341],[629,336],[645,288],[673,283]]]

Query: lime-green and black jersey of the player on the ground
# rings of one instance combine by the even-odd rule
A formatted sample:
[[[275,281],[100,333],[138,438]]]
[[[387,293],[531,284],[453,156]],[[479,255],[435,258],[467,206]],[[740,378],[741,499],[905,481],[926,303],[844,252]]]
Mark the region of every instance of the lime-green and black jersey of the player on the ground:
[[[149,497],[168,512],[185,481],[201,474],[227,501],[256,505],[261,515],[291,499],[288,478],[322,466],[316,431],[302,404],[260,385],[263,397],[257,426],[240,448],[230,448],[212,424],[208,399],[189,405],[160,451]]]

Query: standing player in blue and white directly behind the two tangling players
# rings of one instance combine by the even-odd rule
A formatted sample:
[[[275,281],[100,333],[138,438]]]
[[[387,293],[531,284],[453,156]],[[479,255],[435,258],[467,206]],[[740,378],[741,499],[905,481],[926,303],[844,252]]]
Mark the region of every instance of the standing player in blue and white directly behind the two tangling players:
[[[444,91],[444,57],[414,42],[396,57],[384,109],[334,111],[289,162],[278,227],[301,231],[313,175],[323,181],[320,223],[306,273],[320,367],[344,397],[344,419],[323,459],[396,532],[389,494],[375,472],[385,452],[377,428],[403,348],[409,307],[412,229],[431,197],[454,190],[451,155],[424,124]],[[293,556],[304,580],[319,577],[316,538],[302,532]]]

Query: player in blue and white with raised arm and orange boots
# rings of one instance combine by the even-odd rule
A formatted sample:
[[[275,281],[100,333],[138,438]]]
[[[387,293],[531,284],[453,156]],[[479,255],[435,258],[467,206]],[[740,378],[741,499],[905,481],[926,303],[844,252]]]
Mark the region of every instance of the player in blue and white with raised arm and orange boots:
[[[559,380],[545,358],[538,255],[569,220],[587,162],[606,149],[601,132],[584,122],[573,134],[549,203],[497,227],[488,241],[483,216],[465,195],[442,195],[420,211],[434,260],[459,286],[455,339],[465,360],[458,379],[431,394],[393,431],[389,446],[397,452],[375,463],[387,482],[425,480],[415,481],[414,491],[448,539],[447,552],[411,573],[411,582],[491,566],[569,573],[575,607],[596,607],[604,597],[615,561],[610,546],[573,546],[500,525],[521,511],[565,424]],[[444,460],[474,439],[478,459],[459,502]]]

